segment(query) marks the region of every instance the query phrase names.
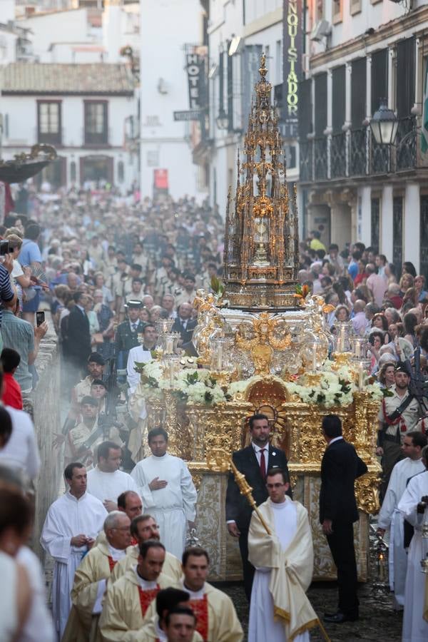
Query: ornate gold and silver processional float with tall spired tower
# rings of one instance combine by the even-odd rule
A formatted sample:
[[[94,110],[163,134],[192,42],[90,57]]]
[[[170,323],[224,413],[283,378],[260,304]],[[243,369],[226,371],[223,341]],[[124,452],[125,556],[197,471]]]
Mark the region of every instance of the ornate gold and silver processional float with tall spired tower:
[[[357,480],[357,569],[367,579],[369,516],[378,509],[380,467],[374,456],[382,394],[367,377],[364,340],[340,325],[333,337],[322,297],[297,283],[299,238],[295,187],[267,82],[265,56],[255,85],[243,160],[225,216],[223,284],[198,291],[197,357],[177,349],[172,322],[159,322],[156,357],[141,364],[131,400],[143,443],[163,425],[169,450],[188,462],[198,489],[198,539],[211,559],[211,579],[241,575],[237,542],[225,526],[225,491],[234,450],[248,444],[248,417],[267,414],[272,442],[285,450],[295,499],[309,512],[314,579],[333,579],[335,566],[318,523],[322,417],[335,412],[344,436],[368,467]],[[329,355],[332,357],[329,359]]]

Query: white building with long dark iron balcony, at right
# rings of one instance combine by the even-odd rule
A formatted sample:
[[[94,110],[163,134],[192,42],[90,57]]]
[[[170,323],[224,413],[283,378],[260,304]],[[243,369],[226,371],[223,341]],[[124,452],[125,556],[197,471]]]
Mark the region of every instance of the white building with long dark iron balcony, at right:
[[[428,6],[319,0],[306,15],[300,84],[300,193],[305,230],[325,243],[361,240],[428,276],[428,158],[420,148]],[[394,147],[377,146],[370,119],[385,101]],[[302,209],[302,208],[301,208]]]

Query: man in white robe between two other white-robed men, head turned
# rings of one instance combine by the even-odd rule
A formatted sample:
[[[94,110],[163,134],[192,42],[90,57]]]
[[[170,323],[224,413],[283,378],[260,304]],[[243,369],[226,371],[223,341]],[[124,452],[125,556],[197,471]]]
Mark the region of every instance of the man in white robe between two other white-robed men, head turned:
[[[98,446],[98,464],[88,471],[88,493],[103,502],[106,509],[118,509],[117,498],[125,491],[138,493],[131,475],[119,470],[122,450],[115,442],[103,442]]]

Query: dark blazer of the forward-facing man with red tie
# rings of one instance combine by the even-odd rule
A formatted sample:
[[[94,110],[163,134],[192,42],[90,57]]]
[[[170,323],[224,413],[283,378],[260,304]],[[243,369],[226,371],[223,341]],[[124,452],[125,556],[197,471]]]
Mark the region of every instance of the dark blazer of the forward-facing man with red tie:
[[[245,479],[253,489],[255,503],[259,506],[267,499],[266,482],[260,474],[260,466],[255,456],[254,448],[250,444],[247,448],[237,450],[232,455],[233,463],[239,472],[245,475]],[[279,448],[269,446],[269,457],[267,459],[267,469],[282,468],[287,480],[290,481],[288,474],[287,457],[285,452]],[[291,496],[291,490],[287,492]],[[228,479],[228,489],[226,491],[226,521],[234,520],[240,531],[246,531],[250,527],[251,514],[253,509],[248,504],[247,499],[240,494],[239,488],[235,482],[233,472],[230,472]]]

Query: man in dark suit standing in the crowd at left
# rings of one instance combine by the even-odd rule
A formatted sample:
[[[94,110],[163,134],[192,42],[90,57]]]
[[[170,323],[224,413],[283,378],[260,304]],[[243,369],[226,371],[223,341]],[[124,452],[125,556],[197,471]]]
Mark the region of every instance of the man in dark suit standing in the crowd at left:
[[[91,354],[91,332],[85,306],[88,302],[86,292],[76,292],[73,295],[76,305],[68,315],[67,323],[67,355],[71,365],[81,377],[86,371],[88,356]]]

